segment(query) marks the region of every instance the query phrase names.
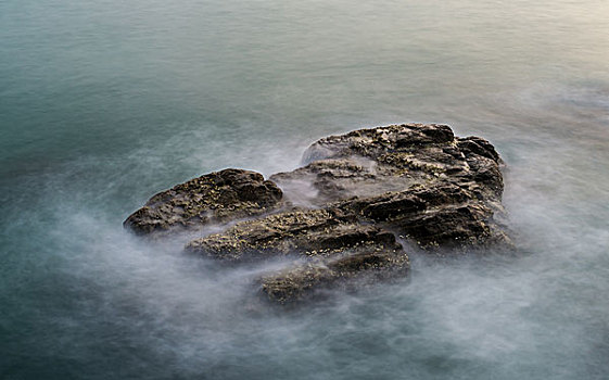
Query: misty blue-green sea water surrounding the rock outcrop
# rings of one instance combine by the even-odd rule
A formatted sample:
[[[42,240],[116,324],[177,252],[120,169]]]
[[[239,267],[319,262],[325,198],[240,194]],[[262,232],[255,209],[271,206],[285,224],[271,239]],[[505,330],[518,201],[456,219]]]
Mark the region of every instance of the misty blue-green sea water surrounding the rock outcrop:
[[[608,62],[606,0],[0,0],[0,378],[606,379]],[[396,122],[495,143],[519,255],[286,312],[122,228]]]

